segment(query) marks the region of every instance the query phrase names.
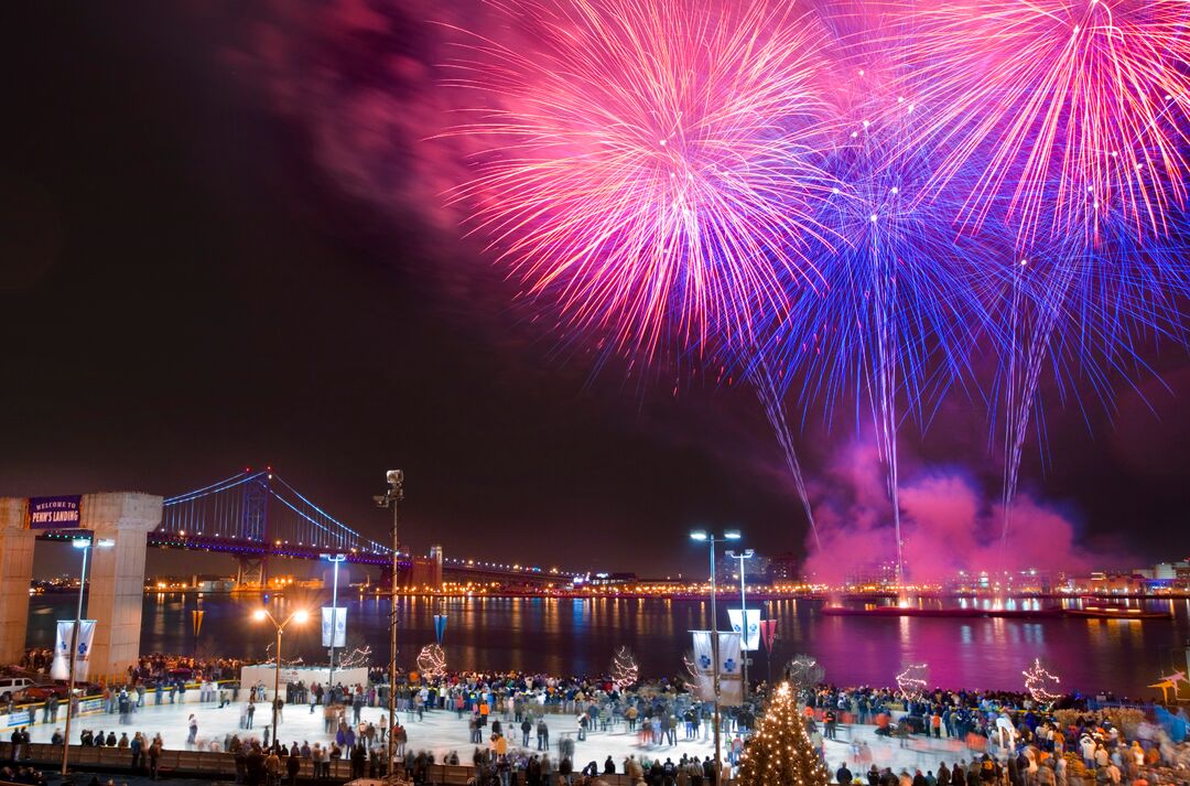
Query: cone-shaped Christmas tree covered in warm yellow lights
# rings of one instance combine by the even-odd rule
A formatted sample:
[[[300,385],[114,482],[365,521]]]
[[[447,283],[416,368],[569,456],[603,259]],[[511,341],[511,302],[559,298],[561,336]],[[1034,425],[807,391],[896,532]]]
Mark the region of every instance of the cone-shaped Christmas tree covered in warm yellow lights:
[[[777,686],[740,759],[737,786],[827,786],[831,776],[810,744],[788,682]]]

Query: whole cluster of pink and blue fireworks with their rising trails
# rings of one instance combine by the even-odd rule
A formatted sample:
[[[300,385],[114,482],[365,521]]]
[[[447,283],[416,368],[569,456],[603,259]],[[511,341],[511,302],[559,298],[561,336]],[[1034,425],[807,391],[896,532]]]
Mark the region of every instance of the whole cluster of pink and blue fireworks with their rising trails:
[[[507,30],[451,82],[472,231],[603,355],[738,361],[815,539],[790,391],[876,425],[900,573],[898,431],[973,347],[1002,361],[1007,539],[1045,369],[1073,380],[1069,355],[1106,399],[1135,336],[1180,337],[1184,0],[490,5]]]

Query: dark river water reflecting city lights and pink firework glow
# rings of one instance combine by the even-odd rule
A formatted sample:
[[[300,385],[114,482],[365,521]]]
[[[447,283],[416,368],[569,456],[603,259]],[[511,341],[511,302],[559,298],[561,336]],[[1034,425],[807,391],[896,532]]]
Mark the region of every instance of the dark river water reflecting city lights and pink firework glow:
[[[344,597],[340,595],[340,604]],[[51,647],[54,623],[74,617],[75,597],[37,595],[30,603],[30,647]],[[328,601],[319,593],[290,594],[270,601],[274,616]],[[259,598],[149,594],[144,601],[142,651],[263,657],[275,637],[267,623],[251,619]],[[387,599],[352,597],[347,606],[349,648],[367,643],[375,663],[388,657]],[[750,603],[750,606],[754,604]],[[1021,690],[1021,670],[1040,657],[1066,690],[1153,695],[1147,688],[1171,668],[1185,669],[1190,638],[1190,600],[1148,601],[1171,610],[1167,620],[1078,618],[1004,619],[823,616],[812,600],[759,604],[777,619],[775,672],[798,653],[819,659],[828,680],[840,685],[891,685],[904,663],[927,663],[929,681],[952,688]],[[192,611],[205,612],[195,642]],[[710,604],[662,599],[424,598],[399,601],[403,666],[433,641],[433,615],[449,618],[444,645],[450,668],[525,669],[590,674],[607,669],[613,650],[626,644],[649,676],[672,676],[690,649],[687,631],[709,628]],[[720,628],[727,605],[720,603]],[[322,660],[318,626],[287,629],[282,656]],[[753,655],[752,675],[764,675],[769,659]]]

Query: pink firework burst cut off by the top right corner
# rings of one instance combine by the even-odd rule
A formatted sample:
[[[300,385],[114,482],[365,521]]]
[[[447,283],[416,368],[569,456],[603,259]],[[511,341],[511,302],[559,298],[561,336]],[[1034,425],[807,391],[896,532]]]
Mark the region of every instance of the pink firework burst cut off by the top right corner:
[[[1110,211],[1138,236],[1167,231],[1190,167],[1190,4],[958,0],[913,14],[904,89],[931,118],[913,144],[942,148],[937,180],[966,191],[965,227],[1002,206],[1023,244],[1097,243]],[[982,171],[962,182],[972,158]]]

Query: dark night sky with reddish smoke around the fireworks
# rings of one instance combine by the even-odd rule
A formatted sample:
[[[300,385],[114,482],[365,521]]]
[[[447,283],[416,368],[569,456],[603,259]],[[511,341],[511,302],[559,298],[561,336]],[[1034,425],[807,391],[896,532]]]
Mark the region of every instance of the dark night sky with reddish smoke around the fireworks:
[[[746,387],[690,364],[596,374],[457,229],[437,194],[462,164],[428,139],[449,124],[436,30],[397,5],[340,4],[339,25],[299,5],[15,11],[0,493],[169,495],[271,463],[382,537],[371,495],[400,467],[416,550],[658,575],[701,567],[691,526],[735,525],[801,553]],[[1022,470],[1129,567],[1190,551],[1190,364],[1152,357],[1164,386],[1141,378],[1107,408],[1051,391],[1046,451]],[[925,437],[907,426],[910,482],[957,473],[995,498],[985,418],[958,393]],[[810,425],[808,475],[856,433]]]

